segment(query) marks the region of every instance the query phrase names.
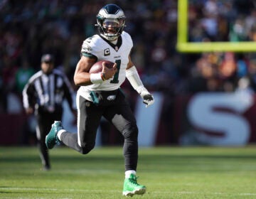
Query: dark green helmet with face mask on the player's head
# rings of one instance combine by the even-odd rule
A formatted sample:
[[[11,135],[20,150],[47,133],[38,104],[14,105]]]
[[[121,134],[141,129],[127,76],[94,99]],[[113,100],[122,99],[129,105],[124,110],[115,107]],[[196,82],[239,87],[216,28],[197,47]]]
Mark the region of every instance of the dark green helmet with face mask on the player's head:
[[[108,41],[114,41],[121,35],[124,24],[124,11],[115,4],[107,4],[97,14],[96,26]]]

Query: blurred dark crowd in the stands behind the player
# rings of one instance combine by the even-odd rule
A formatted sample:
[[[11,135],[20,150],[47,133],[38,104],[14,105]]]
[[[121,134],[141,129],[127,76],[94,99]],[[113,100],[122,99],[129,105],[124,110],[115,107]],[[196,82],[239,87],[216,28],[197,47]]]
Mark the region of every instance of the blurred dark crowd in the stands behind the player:
[[[73,82],[82,41],[97,33],[97,12],[109,3],[124,9],[132,57],[149,90],[169,97],[256,90],[256,52],[176,51],[177,0],[2,0],[0,113],[6,112],[7,94],[21,96],[28,78],[40,70],[43,53],[53,53],[55,65]],[[189,0],[188,18],[189,41],[256,42],[253,0]]]

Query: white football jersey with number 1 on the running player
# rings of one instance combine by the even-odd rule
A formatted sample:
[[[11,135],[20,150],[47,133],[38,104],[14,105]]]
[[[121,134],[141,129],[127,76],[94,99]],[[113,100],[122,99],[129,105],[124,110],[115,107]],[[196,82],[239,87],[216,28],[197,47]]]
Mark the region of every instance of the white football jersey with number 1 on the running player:
[[[78,90],[79,94],[92,101],[90,97],[90,91],[92,90],[117,90],[126,78],[125,70],[129,62],[129,53],[132,50],[132,46],[131,36],[124,31],[122,31],[115,45],[99,35],[83,41],[81,50],[83,56],[97,58],[97,61],[109,60],[112,63],[117,63],[117,73],[111,79],[105,80],[100,84],[81,86]]]

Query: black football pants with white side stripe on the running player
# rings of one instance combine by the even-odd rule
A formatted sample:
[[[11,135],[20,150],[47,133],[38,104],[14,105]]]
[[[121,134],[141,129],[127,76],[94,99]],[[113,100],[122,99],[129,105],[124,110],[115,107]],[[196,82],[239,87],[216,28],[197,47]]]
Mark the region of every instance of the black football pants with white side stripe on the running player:
[[[95,105],[87,99],[77,96],[78,134],[63,132],[63,144],[81,154],[89,153],[95,147],[97,128],[101,117],[105,117],[124,136],[125,171],[137,169],[138,161],[138,128],[134,114],[124,95],[117,95],[112,104]]]

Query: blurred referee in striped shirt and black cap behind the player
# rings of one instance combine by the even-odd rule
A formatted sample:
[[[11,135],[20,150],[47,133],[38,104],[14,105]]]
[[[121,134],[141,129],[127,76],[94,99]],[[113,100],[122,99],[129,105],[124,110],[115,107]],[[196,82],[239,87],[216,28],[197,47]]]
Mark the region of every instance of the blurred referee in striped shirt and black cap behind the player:
[[[60,121],[63,116],[63,99],[67,99],[71,112],[75,114],[73,87],[65,74],[54,69],[53,55],[45,54],[41,58],[41,70],[36,72],[23,89],[23,107],[26,114],[35,114],[36,138],[43,164],[43,170],[50,169],[46,135],[51,124]]]

